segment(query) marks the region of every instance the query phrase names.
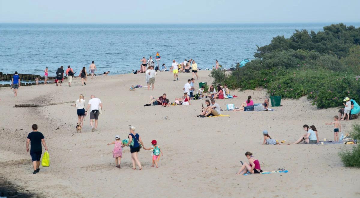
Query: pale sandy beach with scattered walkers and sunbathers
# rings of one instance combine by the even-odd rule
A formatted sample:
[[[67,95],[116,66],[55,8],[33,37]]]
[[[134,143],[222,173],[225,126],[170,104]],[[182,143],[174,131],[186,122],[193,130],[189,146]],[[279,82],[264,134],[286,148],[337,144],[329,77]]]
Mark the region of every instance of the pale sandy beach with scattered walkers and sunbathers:
[[[211,84],[210,71],[198,74],[200,81]],[[179,73],[179,81],[172,81],[172,73],[158,72],[154,91],[129,91],[131,85],[146,86],[144,74],[88,77],[86,86],[78,77],[71,87],[67,79],[62,87],[23,86],[17,98],[8,87],[0,88],[0,177],[40,197],[360,197],[360,170],[344,167],[338,157],[339,151],[354,145],[287,145],[305,133],[304,124],[315,125],[320,140],[333,139],[333,126],[325,122],[332,121],[338,108],[319,110],[303,97],[282,100],[276,111],[222,111],[230,116],[198,118],[204,100],[191,100],[187,106],[143,106],[150,95],[163,93],[174,102],[191,77]],[[87,116],[81,134],[76,133],[76,108],[70,104],[14,108],[15,104],[75,104],[79,94],[86,102],[94,94],[103,103],[96,132],[91,132]],[[260,89],[231,90],[231,94],[238,98],[216,100],[222,109],[226,104],[240,106],[248,95],[262,103],[267,95]],[[342,131],[351,131],[359,121],[342,121]],[[45,136],[51,161],[36,175],[25,144],[33,123]],[[132,170],[129,147],[123,149],[121,169],[115,167],[114,145],[107,143],[117,134],[126,139],[129,125],[136,127],[146,147],[157,140],[164,153],[159,168],[150,167],[151,153],[141,149],[143,170]],[[262,130],[286,143],[261,145]],[[260,161],[262,170],[289,172],[235,175],[240,161],[248,162],[247,151]]]

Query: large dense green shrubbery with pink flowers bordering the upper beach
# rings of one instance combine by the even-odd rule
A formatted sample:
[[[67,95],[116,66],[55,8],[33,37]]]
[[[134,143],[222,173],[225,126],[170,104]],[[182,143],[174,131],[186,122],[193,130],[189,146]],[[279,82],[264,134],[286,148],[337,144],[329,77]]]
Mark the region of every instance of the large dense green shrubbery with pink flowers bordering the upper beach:
[[[229,89],[264,87],[270,96],[306,96],[318,108],[338,107],[346,96],[360,101],[360,28],[342,23],[310,33],[296,31],[289,39],[274,37],[258,47],[255,60],[231,72],[213,70],[214,84]]]

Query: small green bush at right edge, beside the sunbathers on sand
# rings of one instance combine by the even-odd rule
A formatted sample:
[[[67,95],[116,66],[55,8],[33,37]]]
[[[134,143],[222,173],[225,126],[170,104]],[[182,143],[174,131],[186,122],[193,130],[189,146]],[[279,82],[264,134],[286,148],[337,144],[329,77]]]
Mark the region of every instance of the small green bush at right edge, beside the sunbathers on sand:
[[[350,132],[350,136],[352,139],[359,141],[360,140],[360,125],[355,124],[353,127],[354,127],[354,130],[352,132]],[[345,166],[360,168],[360,144],[356,145],[354,148],[352,148],[352,150],[346,149],[346,150],[339,152],[339,156]]]

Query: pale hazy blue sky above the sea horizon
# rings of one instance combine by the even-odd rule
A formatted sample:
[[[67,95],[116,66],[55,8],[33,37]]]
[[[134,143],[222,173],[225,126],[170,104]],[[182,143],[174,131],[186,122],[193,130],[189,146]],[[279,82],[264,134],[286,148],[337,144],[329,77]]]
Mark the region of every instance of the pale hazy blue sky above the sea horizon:
[[[360,0],[0,0],[0,23],[360,22]]]

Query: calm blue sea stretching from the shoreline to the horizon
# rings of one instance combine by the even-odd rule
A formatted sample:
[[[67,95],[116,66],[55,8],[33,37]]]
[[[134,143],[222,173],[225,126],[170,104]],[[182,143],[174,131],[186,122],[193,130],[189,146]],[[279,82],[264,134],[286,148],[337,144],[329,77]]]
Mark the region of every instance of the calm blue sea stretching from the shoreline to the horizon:
[[[193,58],[202,69],[215,60],[229,68],[253,59],[256,45],[269,44],[277,35],[318,32],[329,24],[0,24],[0,71],[43,75],[47,66],[54,76],[61,65],[78,73],[94,60],[97,73],[129,73],[157,51],[160,66]]]

